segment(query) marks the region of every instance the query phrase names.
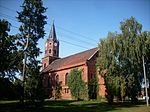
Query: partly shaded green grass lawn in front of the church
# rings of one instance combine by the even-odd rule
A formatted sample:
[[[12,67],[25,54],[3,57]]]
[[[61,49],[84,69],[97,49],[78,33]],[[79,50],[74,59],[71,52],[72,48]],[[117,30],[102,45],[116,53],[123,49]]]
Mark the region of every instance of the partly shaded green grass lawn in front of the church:
[[[0,101],[0,112],[150,112],[150,106],[129,102],[108,105],[100,101],[46,100],[43,107],[26,107],[23,111],[18,101]]]

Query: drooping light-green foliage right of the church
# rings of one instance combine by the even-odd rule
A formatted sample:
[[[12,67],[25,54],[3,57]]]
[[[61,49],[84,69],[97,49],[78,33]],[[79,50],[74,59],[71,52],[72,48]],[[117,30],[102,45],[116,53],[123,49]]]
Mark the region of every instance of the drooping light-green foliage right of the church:
[[[108,33],[100,41],[97,66],[102,70],[110,102],[114,96],[121,96],[122,100],[128,96],[135,103],[143,78],[142,56],[150,60],[150,32],[141,32],[142,25],[133,17],[121,22],[120,29],[121,34]]]

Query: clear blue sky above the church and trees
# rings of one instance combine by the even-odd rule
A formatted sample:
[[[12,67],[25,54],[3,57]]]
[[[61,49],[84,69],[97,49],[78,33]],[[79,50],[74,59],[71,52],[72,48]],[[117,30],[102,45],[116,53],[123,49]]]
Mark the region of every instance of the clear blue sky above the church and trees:
[[[23,0],[0,0],[0,19],[7,19],[12,27],[10,34],[19,33],[20,23],[15,18],[21,11]],[[66,57],[98,46],[108,32],[120,32],[120,22],[131,16],[150,31],[150,0],[43,0],[47,11],[45,37],[39,40],[44,56],[45,41],[54,19],[59,56]]]

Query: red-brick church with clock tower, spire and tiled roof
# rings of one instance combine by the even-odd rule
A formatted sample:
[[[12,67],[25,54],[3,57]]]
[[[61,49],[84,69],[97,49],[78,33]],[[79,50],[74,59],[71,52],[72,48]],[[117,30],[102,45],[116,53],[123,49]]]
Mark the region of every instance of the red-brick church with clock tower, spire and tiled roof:
[[[57,40],[54,22],[51,26],[49,37],[45,42],[45,54],[42,58],[43,86],[49,98],[54,97],[52,91],[61,85],[61,98],[72,99],[68,87],[69,72],[74,69],[82,69],[82,79],[87,84],[96,76],[95,64],[98,56],[98,48],[89,49],[64,58],[59,57],[59,41]],[[97,71],[97,70],[96,70]],[[98,75],[99,96],[105,96],[104,79]],[[93,99],[96,98],[96,90],[92,91]]]

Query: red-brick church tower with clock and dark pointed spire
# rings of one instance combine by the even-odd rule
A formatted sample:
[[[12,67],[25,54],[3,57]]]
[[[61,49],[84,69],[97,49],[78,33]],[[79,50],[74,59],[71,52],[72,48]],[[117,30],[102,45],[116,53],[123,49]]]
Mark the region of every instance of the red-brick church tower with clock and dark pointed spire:
[[[42,58],[42,69],[46,68],[52,61],[59,58],[59,41],[56,37],[54,21],[48,39],[45,42],[45,55]]]

